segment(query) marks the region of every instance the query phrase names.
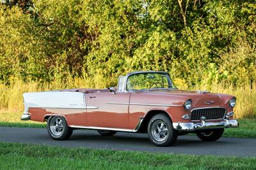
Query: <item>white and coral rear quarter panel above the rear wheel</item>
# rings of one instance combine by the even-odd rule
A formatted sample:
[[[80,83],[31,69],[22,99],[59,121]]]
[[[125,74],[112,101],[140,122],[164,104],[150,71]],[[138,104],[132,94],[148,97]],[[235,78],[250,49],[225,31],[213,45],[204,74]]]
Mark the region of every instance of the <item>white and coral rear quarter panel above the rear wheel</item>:
[[[81,92],[31,92],[23,94],[24,113],[31,120],[44,122],[45,117],[60,115],[68,125],[86,125],[85,94]]]

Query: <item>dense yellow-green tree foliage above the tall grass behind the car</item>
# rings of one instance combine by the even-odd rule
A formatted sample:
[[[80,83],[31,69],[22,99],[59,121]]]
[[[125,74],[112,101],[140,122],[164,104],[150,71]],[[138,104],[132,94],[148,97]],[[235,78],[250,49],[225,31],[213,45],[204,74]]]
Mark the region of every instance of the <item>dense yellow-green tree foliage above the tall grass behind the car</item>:
[[[2,83],[113,85],[136,70],[169,71],[188,85],[256,80],[255,0],[28,2],[0,4]]]

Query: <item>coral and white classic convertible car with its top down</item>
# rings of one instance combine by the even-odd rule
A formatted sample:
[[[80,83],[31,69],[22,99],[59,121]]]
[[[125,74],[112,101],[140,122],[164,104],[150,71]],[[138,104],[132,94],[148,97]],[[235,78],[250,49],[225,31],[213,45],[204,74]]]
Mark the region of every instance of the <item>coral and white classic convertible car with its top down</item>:
[[[148,133],[156,146],[170,146],[177,136],[196,133],[216,141],[233,119],[236,97],[178,90],[163,71],[137,71],[120,76],[117,89],[65,89],[24,93],[21,120],[47,122],[52,139],[68,139],[74,129]]]

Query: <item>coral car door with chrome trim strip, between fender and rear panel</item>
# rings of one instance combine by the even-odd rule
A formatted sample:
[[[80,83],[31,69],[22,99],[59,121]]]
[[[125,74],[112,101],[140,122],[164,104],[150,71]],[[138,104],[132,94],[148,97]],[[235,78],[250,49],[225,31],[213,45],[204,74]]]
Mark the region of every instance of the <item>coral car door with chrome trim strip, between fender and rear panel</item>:
[[[92,127],[129,128],[130,93],[86,94],[87,124]]]

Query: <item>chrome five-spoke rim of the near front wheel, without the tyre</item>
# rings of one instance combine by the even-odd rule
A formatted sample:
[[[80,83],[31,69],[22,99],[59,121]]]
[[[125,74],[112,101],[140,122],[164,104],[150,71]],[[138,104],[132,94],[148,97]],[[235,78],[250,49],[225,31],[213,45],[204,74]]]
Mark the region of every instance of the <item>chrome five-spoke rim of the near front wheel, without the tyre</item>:
[[[152,124],[152,136],[159,142],[164,141],[167,138],[167,125],[162,120],[157,120]]]

